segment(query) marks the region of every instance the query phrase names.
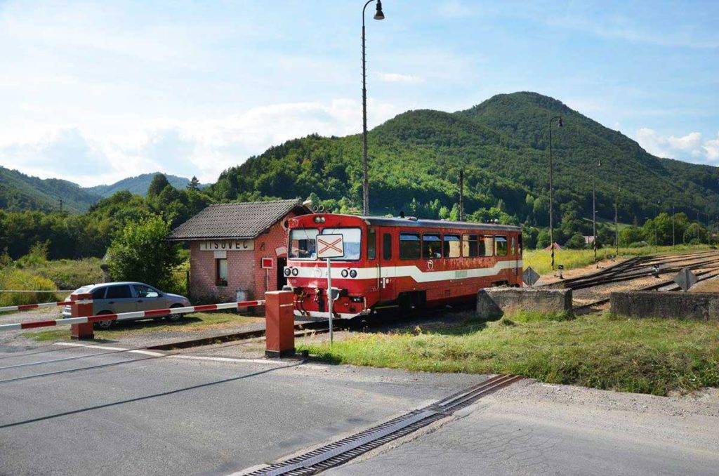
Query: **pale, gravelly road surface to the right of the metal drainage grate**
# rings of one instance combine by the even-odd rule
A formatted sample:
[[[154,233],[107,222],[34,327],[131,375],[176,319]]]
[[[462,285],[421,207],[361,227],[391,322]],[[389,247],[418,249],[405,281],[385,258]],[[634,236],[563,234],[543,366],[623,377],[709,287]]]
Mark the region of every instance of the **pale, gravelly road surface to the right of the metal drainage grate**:
[[[717,390],[691,401],[525,381],[328,474],[718,475],[718,428]]]

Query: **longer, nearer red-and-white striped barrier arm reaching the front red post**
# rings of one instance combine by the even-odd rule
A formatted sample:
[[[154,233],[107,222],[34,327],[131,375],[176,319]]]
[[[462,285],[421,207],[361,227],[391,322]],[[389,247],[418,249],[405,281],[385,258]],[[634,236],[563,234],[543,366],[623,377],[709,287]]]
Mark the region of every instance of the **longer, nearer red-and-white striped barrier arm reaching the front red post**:
[[[84,303],[86,301],[72,302],[76,304]],[[32,306],[37,306],[37,304],[32,304]],[[219,309],[237,309],[252,306],[265,306],[265,301],[237,301],[235,303],[204,304],[203,306],[188,306],[186,308],[152,309],[152,311],[134,311],[119,314],[101,314],[99,316],[70,317],[68,319],[48,319],[47,321],[17,322],[14,324],[0,324],[0,331],[35,329],[37,327],[69,326],[70,324],[87,324],[97,321],[126,321],[128,319],[142,319],[144,317],[168,316],[170,314],[187,314],[191,312],[203,311],[218,311]]]

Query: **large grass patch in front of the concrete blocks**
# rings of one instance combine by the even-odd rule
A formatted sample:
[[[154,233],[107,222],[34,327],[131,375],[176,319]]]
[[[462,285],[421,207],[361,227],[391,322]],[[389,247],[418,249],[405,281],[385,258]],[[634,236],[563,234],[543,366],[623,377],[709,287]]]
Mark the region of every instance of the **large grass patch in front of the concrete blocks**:
[[[719,387],[716,323],[608,315],[569,321],[517,316],[489,323],[467,319],[455,326],[423,327],[421,332],[352,334],[332,347],[305,341],[298,349],[326,362],[508,373],[547,383],[654,395]]]

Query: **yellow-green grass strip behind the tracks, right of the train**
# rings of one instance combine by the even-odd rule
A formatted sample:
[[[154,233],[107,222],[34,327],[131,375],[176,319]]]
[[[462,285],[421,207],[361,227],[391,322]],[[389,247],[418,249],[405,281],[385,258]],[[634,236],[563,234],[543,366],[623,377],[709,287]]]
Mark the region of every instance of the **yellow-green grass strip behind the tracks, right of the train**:
[[[619,257],[628,258],[646,255],[661,255],[665,253],[682,254],[697,252],[702,250],[710,250],[707,244],[697,245],[678,245],[671,246],[648,246],[641,248],[620,248]],[[600,248],[597,250],[597,258],[605,260],[608,256],[615,254],[613,247]],[[557,265],[564,265],[565,270],[572,270],[577,267],[585,267],[594,262],[593,250],[555,250],[554,259]],[[551,273],[551,251],[549,250],[525,250],[523,253],[524,267],[533,267],[540,275]]]

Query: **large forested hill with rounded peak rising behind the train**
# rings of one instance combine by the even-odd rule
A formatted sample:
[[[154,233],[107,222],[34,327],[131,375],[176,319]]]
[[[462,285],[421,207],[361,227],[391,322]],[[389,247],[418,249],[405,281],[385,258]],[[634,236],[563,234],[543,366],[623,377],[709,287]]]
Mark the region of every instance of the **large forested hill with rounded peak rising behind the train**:
[[[598,214],[643,220],[660,210],[719,212],[716,168],[655,157],[620,132],[537,93],[500,94],[465,111],[417,110],[372,129],[370,208],[437,216],[457,202],[459,170],[465,203],[475,219],[503,212],[518,221],[546,224],[549,118],[558,211],[591,214],[592,179]],[[352,211],[361,205],[361,136],[311,135],[270,147],[226,170],[209,188],[221,201],[306,197]],[[601,166],[597,163],[601,162]]]

